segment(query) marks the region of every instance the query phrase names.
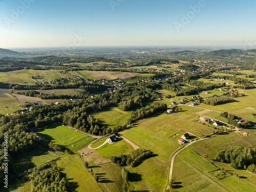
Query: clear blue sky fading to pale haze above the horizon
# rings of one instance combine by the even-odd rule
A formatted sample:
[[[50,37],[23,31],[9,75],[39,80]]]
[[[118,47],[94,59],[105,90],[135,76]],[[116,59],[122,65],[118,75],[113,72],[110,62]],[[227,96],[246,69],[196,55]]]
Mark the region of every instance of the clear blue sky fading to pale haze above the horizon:
[[[256,41],[256,1],[205,0],[198,13],[190,6],[203,0],[112,0],[118,1],[113,7],[110,0],[0,0],[0,48],[243,46],[245,39]],[[188,24],[182,14],[190,14]],[[177,30],[177,25],[182,27]]]

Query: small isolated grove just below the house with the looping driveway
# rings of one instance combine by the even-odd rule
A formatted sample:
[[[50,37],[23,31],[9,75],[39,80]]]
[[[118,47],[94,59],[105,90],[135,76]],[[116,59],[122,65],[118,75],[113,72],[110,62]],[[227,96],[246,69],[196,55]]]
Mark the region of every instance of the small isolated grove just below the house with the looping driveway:
[[[141,161],[152,156],[152,152],[144,148],[137,148],[130,154],[119,155],[118,157],[112,156],[111,161],[119,166],[137,166]]]

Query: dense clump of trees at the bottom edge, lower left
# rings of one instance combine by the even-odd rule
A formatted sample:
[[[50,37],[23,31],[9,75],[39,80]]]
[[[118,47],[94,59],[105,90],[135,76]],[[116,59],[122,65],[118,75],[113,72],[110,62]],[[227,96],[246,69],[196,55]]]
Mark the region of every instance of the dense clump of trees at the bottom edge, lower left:
[[[32,192],[58,191],[67,192],[67,180],[61,176],[55,162],[49,162],[29,169]]]

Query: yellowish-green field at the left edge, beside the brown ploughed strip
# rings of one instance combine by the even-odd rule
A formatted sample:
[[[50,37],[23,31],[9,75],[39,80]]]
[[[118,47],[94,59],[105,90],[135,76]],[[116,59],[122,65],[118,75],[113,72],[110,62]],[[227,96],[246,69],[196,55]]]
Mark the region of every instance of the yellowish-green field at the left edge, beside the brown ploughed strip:
[[[6,115],[14,113],[18,110],[22,110],[22,106],[20,106],[19,102],[10,94],[5,94],[6,97],[0,98],[0,114]]]

